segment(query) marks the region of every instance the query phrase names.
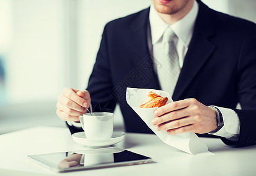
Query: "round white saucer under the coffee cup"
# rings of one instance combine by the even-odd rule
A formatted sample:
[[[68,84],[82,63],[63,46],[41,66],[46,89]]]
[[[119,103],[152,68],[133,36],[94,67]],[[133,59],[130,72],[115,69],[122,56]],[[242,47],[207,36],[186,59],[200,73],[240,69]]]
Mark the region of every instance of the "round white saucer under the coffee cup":
[[[124,139],[125,134],[121,131],[114,131],[111,138],[103,138],[103,139],[88,139],[84,134],[84,131],[72,134],[73,140],[81,145],[86,145],[90,148],[101,148],[101,147],[109,147],[110,145],[114,145],[119,143]]]

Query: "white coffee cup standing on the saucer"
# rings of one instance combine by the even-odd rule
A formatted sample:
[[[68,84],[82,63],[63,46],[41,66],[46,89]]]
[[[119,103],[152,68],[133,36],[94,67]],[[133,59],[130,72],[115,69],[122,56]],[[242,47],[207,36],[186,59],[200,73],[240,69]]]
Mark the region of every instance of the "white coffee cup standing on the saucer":
[[[113,113],[86,113],[79,119],[86,138],[111,138],[114,128]]]

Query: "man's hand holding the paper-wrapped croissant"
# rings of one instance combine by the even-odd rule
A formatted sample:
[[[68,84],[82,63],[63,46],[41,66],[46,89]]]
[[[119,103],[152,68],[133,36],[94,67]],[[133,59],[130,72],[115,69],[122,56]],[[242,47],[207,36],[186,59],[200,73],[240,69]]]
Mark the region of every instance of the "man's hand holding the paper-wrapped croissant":
[[[196,99],[174,101],[159,107],[154,112],[152,124],[157,130],[166,130],[168,134],[208,133],[217,127],[216,113]]]

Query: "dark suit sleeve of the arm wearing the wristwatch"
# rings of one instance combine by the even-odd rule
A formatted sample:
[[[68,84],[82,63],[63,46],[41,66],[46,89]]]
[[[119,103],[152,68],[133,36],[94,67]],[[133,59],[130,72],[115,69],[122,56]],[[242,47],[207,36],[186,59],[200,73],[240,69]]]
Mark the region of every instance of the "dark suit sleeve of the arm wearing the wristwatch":
[[[227,145],[256,144],[256,25],[245,33],[237,66],[238,95],[242,110],[233,109],[240,120],[237,142],[221,138]]]

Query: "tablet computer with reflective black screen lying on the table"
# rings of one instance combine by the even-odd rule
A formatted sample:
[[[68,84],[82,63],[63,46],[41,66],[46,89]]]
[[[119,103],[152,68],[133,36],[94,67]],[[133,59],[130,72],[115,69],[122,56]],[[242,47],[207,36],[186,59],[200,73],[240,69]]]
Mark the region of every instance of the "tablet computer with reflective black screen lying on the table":
[[[150,157],[119,147],[28,155],[28,158],[57,172],[91,170],[152,162]]]

